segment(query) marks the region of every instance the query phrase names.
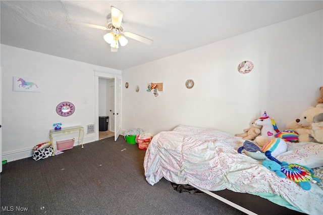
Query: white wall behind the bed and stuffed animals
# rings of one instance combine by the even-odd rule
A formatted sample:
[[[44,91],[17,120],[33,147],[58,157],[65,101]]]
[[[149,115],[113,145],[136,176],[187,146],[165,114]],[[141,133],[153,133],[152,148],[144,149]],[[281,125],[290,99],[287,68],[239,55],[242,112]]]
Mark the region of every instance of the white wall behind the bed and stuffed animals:
[[[122,128],[156,134],[185,124],[235,134],[266,111],[283,130],[316,104],[322,50],[318,11],[130,68],[123,71]],[[254,63],[253,71],[238,73],[246,60]],[[185,87],[187,79],[194,80],[192,89]],[[150,82],[164,83],[160,97],[145,91]]]

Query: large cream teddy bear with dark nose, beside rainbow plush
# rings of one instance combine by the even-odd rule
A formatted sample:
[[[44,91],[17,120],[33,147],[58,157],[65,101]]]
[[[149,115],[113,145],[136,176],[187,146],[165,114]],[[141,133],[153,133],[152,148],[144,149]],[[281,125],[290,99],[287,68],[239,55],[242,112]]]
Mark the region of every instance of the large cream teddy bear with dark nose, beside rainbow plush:
[[[315,107],[310,106],[293,122],[286,125],[287,129],[294,129],[298,134],[299,142],[311,142],[308,134],[311,133],[314,116],[323,113],[323,104],[317,104]]]

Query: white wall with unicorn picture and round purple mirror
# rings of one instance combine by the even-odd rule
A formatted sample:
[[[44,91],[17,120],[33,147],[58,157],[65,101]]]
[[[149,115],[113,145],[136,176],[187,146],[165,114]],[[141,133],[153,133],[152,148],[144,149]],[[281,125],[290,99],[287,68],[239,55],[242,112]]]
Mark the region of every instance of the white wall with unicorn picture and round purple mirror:
[[[118,70],[7,45],[1,45],[1,66],[3,159],[8,161],[31,156],[34,145],[49,141],[53,123],[84,128],[94,123],[94,70],[121,75]],[[41,92],[13,91],[13,76],[41,79]],[[61,117],[56,113],[56,106],[62,101],[75,105],[73,115]],[[83,143],[94,140],[94,134],[85,132]]]

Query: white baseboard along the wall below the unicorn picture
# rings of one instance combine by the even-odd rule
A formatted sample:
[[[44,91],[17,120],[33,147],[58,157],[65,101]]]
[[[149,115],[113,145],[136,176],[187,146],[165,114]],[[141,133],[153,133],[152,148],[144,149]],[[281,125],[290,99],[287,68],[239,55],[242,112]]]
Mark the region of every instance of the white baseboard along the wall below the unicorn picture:
[[[94,141],[95,141],[95,135],[84,137],[83,144],[94,142]],[[77,146],[77,145],[78,145],[78,140],[75,139],[74,146]],[[56,143],[54,143],[54,147],[56,148]],[[25,149],[19,149],[15,151],[3,152],[2,159],[7,160],[7,162],[12,162],[14,160],[19,160],[19,159],[23,159],[31,156],[32,156],[32,148],[25,148]]]

